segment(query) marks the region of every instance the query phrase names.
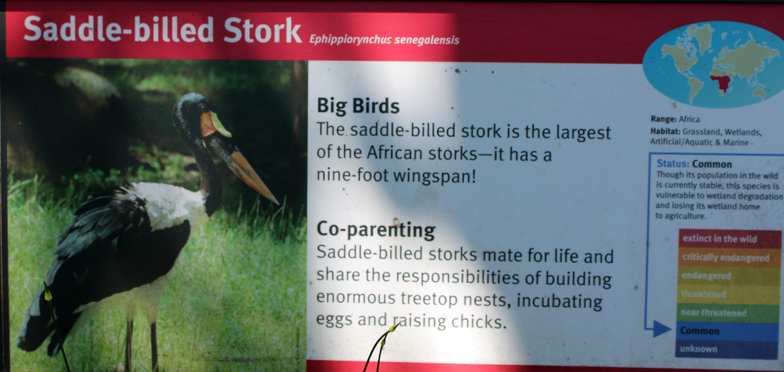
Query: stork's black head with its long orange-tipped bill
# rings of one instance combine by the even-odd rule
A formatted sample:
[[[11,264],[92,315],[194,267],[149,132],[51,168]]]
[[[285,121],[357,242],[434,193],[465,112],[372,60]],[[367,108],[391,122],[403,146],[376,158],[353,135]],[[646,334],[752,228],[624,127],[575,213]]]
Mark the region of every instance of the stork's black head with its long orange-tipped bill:
[[[172,108],[172,123],[191,149],[204,149],[205,146],[211,149],[248,186],[278,204],[278,200],[234,145],[231,133],[218,120],[215,106],[209,99],[198,93],[183,96]]]

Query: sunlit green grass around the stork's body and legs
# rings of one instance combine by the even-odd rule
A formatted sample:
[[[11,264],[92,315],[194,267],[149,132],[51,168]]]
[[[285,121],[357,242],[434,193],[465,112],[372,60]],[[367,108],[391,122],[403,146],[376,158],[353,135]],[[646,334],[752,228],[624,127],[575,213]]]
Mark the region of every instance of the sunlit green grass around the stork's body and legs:
[[[9,179],[11,370],[65,369],[62,358],[46,355],[46,344],[35,352],[13,345],[73,211],[117,177],[85,172],[60,188],[38,177]],[[268,204],[218,211],[192,234],[169,273],[158,316],[162,370],[305,369],[305,219]],[[151,369],[149,330],[140,312],[134,370]],[[110,371],[124,360],[124,347],[121,309],[102,309],[64,345],[74,371]]]

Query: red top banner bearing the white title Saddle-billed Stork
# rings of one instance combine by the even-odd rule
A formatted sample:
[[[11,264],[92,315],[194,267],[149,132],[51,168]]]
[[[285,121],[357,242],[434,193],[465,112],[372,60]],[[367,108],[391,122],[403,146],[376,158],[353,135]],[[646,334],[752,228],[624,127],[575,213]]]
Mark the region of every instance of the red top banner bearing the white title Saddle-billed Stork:
[[[76,4],[73,11],[63,3],[9,2],[7,56],[641,63],[661,34],[699,21],[750,23],[784,35],[778,5],[303,4],[286,12],[274,3],[266,8],[274,13],[259,13],[246,2],[209,2],[194,13],[190,3],[177,2],[111,2],[92,10]],[[647,26],[638,27],[643,21]]]

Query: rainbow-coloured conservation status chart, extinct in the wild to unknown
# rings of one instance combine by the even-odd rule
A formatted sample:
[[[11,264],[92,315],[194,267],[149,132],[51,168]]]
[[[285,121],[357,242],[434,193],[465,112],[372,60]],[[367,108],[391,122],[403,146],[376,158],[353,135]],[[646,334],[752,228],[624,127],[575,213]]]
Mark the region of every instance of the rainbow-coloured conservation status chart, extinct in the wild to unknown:
[[[680,229],[675,356],[776,359],[780,230]]]

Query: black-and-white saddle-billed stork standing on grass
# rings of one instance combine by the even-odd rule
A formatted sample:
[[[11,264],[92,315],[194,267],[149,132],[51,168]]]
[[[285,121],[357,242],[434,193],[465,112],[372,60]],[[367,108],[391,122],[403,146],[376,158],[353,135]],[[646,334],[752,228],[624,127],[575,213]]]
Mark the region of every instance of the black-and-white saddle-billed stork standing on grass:
[[[150,321],[152,370],[157,371],[155,322],[166,275],[191,232],[220,205],[223,186],[207,149],[253,190],[278,204],[231,142],[231,134],[209,99],[195,93],[183,96],[172,108],[172,123],[196,158],[200,190],[138,182],[93,194],[60,236],[56,261],[46,275],[63,341],[97,305],[112,302],[126,307],[125,370],[129,372],[136,306]],[[16,345],[33,351],[51,335],[48,351],[56,356],[60,341],[53,331],[42,285],[27,310]]]

